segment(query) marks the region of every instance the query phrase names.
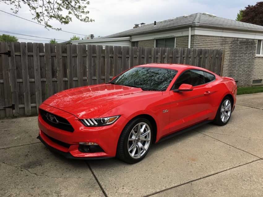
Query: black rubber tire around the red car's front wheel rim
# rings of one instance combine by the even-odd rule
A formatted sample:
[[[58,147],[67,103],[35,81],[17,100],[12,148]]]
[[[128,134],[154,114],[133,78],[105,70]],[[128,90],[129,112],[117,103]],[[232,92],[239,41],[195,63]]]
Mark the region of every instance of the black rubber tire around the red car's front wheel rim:
[[[146,150],[146,152],[140,158],[135,159],[135,158],[132,158],[128,152],[128,139],[129,139],[131,130],[136,126],[136,124],[141,123],[141,122],[144,122],[144,123],[149,125],[150,132],[151,132],[151,139],[150,139],[149,147]],[[135,119],[131,120],[130,122],[128,122],[122,131],[122,133],[119,137],[119,141],[118,141],[116,156],[120,160],[122,160],[126,163],[130,163],[130,164],[137,163],[137,162],[141,161],[147,155],[147,153],[149,152],[149,149],[151,147],[152,141],[153,141],[153,126],[150,123],[150,121],[148,119],[145,119],[145,118],[140,118],[140,117],[135,118]]]

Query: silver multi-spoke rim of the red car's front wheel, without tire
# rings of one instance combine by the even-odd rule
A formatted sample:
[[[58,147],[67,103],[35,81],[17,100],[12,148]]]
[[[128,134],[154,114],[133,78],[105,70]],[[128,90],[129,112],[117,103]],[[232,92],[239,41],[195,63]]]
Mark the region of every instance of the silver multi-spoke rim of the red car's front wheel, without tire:
[[[128,152],[134,159],[142,157],[149,148],[151,130],[147,123],[136,124],[130,132],[128,139]]]

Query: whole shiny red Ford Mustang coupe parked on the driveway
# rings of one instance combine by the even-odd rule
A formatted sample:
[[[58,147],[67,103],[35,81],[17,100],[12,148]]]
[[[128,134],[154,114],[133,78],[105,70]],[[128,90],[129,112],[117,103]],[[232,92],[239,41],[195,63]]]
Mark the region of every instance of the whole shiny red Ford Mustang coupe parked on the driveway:
[[[67,158],[118,156],[136,163],[151,144],[213,121],[235,108],[232,78],[190,65],[135,66],[109,83],[64,90],[39,107],[38,138]]]

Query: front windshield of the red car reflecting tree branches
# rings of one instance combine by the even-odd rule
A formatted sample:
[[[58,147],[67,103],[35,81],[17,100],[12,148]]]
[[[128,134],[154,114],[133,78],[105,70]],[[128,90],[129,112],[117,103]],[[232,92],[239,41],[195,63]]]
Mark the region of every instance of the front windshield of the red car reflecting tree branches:
[[[119,75],[110,83],[138,87],[142,90],[165,91],[177,70],[154,67],[134,67]]]

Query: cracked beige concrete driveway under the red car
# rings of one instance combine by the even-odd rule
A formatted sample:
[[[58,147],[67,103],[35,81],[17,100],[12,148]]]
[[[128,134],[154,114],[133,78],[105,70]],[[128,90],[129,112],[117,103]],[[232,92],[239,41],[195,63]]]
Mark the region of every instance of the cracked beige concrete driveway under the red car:
[[[263,93],[238,96],[226,126],[152,146],[140,163],[68,160],[36,139],[37,117],[0,120],[0,196],[262,196]]]

